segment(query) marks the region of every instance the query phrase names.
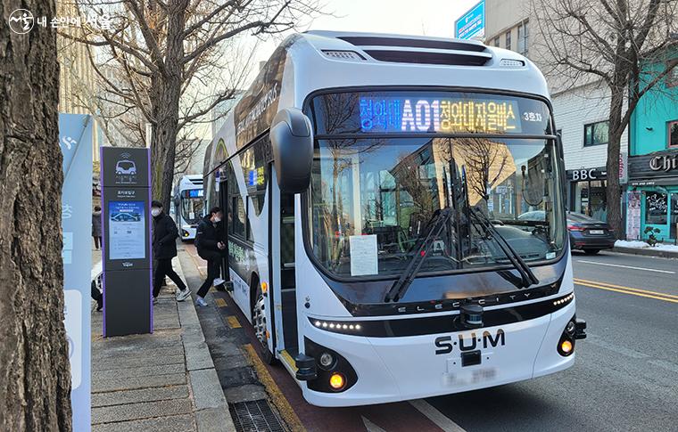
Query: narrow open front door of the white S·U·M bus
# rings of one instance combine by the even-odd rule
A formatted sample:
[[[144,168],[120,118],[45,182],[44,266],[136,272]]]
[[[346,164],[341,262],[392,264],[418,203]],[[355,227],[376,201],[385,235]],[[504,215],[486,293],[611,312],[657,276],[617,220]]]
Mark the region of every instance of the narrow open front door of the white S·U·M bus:
[[[275,310],[282,312],[275,316],[277,350],[284,349],[294,358],[299,352],[294,267],[294,194],[280,192],[277,187],[275,169],[271,167],[270,172],[270,183],[273,183],[271,185],[273,205],[270,215],[271,270],[273,289],[275,289]],[[279,329],[282,329],[282,334]]]

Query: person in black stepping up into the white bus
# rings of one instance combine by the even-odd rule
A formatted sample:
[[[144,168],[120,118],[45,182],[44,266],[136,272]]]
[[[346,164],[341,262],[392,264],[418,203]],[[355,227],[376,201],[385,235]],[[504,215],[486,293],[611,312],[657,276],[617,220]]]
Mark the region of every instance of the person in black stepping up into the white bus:
[[[198,255],[207,261],[207,278],[198,289],[198,297],[195,299],[195,304],[198,306],[207,306],[205,295],[212,285],[217,287],[224,283],[224,280],[219,277],[221,257],[226,250],[226,244],[221,241],[219,235],[223,216],[221,208],[212,208],[210,213],[200,221],[195,232],[195,248],[198,249]]]

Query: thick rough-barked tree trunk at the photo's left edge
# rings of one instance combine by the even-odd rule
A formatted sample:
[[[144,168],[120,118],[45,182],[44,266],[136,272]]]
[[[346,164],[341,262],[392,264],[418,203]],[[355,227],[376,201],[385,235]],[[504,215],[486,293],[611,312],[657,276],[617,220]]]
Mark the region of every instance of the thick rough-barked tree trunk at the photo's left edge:
[[[0,430],[70,430],[56,32],[13,33],[0,0]],[[54,16],[54,0],[24,0]]]

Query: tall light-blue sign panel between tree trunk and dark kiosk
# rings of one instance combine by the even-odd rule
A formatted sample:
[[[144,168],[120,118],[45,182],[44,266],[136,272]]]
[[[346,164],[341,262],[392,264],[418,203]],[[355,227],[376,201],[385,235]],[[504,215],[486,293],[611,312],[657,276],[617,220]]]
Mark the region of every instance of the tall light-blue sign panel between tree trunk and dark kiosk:
[[[64,324],[69,342],[73,430],[90,430],[90,275],[92,270],[92,117],[59,114],[63,153]]]

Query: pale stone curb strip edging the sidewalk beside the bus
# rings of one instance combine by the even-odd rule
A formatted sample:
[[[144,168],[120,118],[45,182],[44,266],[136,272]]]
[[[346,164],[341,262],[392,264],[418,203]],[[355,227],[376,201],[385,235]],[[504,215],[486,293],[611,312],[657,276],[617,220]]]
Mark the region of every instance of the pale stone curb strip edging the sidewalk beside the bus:
[[[179,251],[179,253],[186,253]],[[173,265],[182,281],[184,277],[181,261]],[[190,288],[189,288],[190,289]],[[193,293],[192,293],[193,294]],[[225,431],[232,432],[236,427],[228,411],[226,396],[219,384],[219,376],[205,343],[203,328],[195,311],[194,296],[177,302],[181,340],[186,353],[186,372],[195,405],[195,420],[198,432]]]

